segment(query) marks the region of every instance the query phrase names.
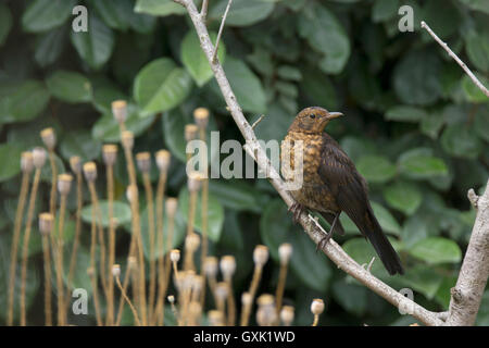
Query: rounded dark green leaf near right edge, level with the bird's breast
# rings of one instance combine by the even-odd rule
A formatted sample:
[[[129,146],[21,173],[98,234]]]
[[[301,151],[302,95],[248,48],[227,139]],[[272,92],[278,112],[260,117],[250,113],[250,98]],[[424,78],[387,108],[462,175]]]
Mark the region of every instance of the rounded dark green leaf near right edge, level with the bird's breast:
[[[453,124],[444,128],[441,146],[448,153],[467,159],[476,159],[482,150],[476,129],[466,124]]]

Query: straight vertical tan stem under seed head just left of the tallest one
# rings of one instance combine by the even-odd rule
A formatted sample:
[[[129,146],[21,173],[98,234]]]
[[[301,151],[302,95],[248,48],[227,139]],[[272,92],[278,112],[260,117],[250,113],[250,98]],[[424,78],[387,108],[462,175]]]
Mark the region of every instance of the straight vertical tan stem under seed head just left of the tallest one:
[[[114,277],[111,276],[111,270],[115,263],[115,225],[113,223],[114,217],[114,167],[112,165],[106,166],[106,190],[109,200],[109,284],[108,284],[108,298],[106,298],[106,325],[114,324]]]

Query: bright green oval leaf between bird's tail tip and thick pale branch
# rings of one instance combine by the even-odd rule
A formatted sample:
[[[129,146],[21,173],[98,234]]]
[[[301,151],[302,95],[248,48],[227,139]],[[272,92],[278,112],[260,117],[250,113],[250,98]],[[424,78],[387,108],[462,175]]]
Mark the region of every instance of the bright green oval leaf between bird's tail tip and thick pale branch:
[[[462,260],[456,243],[442,237],[428,237],[409,249],[410,254],[428,264],[455,263]]]

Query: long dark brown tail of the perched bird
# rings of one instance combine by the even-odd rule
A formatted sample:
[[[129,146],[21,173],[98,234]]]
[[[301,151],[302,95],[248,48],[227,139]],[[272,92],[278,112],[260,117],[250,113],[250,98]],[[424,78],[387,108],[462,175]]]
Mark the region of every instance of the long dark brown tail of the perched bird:
[[[396,250],[392,248],[389,239],[387,239],[384,234],[383,228],[375,217],[371,207],[368,207],[368,210],[365,213],[365,225],[362,227],[364,227],[361,228],[362,233],[374,246],[374,249],[380,257],[380,261],[383,261],[387,272],[389,272],[390,275],[394,275],[396,273],[404,274],[401,260],[399,259]]]

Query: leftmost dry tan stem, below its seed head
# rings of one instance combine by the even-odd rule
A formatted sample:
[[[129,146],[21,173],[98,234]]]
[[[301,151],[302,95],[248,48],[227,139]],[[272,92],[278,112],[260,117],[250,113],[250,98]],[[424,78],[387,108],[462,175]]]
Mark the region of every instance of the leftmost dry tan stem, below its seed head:
[[[25,200],[29,190],[30,173],[22,174],[21,194],[18,195],[17,210],[15,212],[14,233],[12,247],[10,249],[10,269],[9,269],[9,304],[7,313],[7,325],[13,324],[13,304],[15,289],[15,272],[17,266],[18,239],[21,238],[22,217],[24,216]]]

